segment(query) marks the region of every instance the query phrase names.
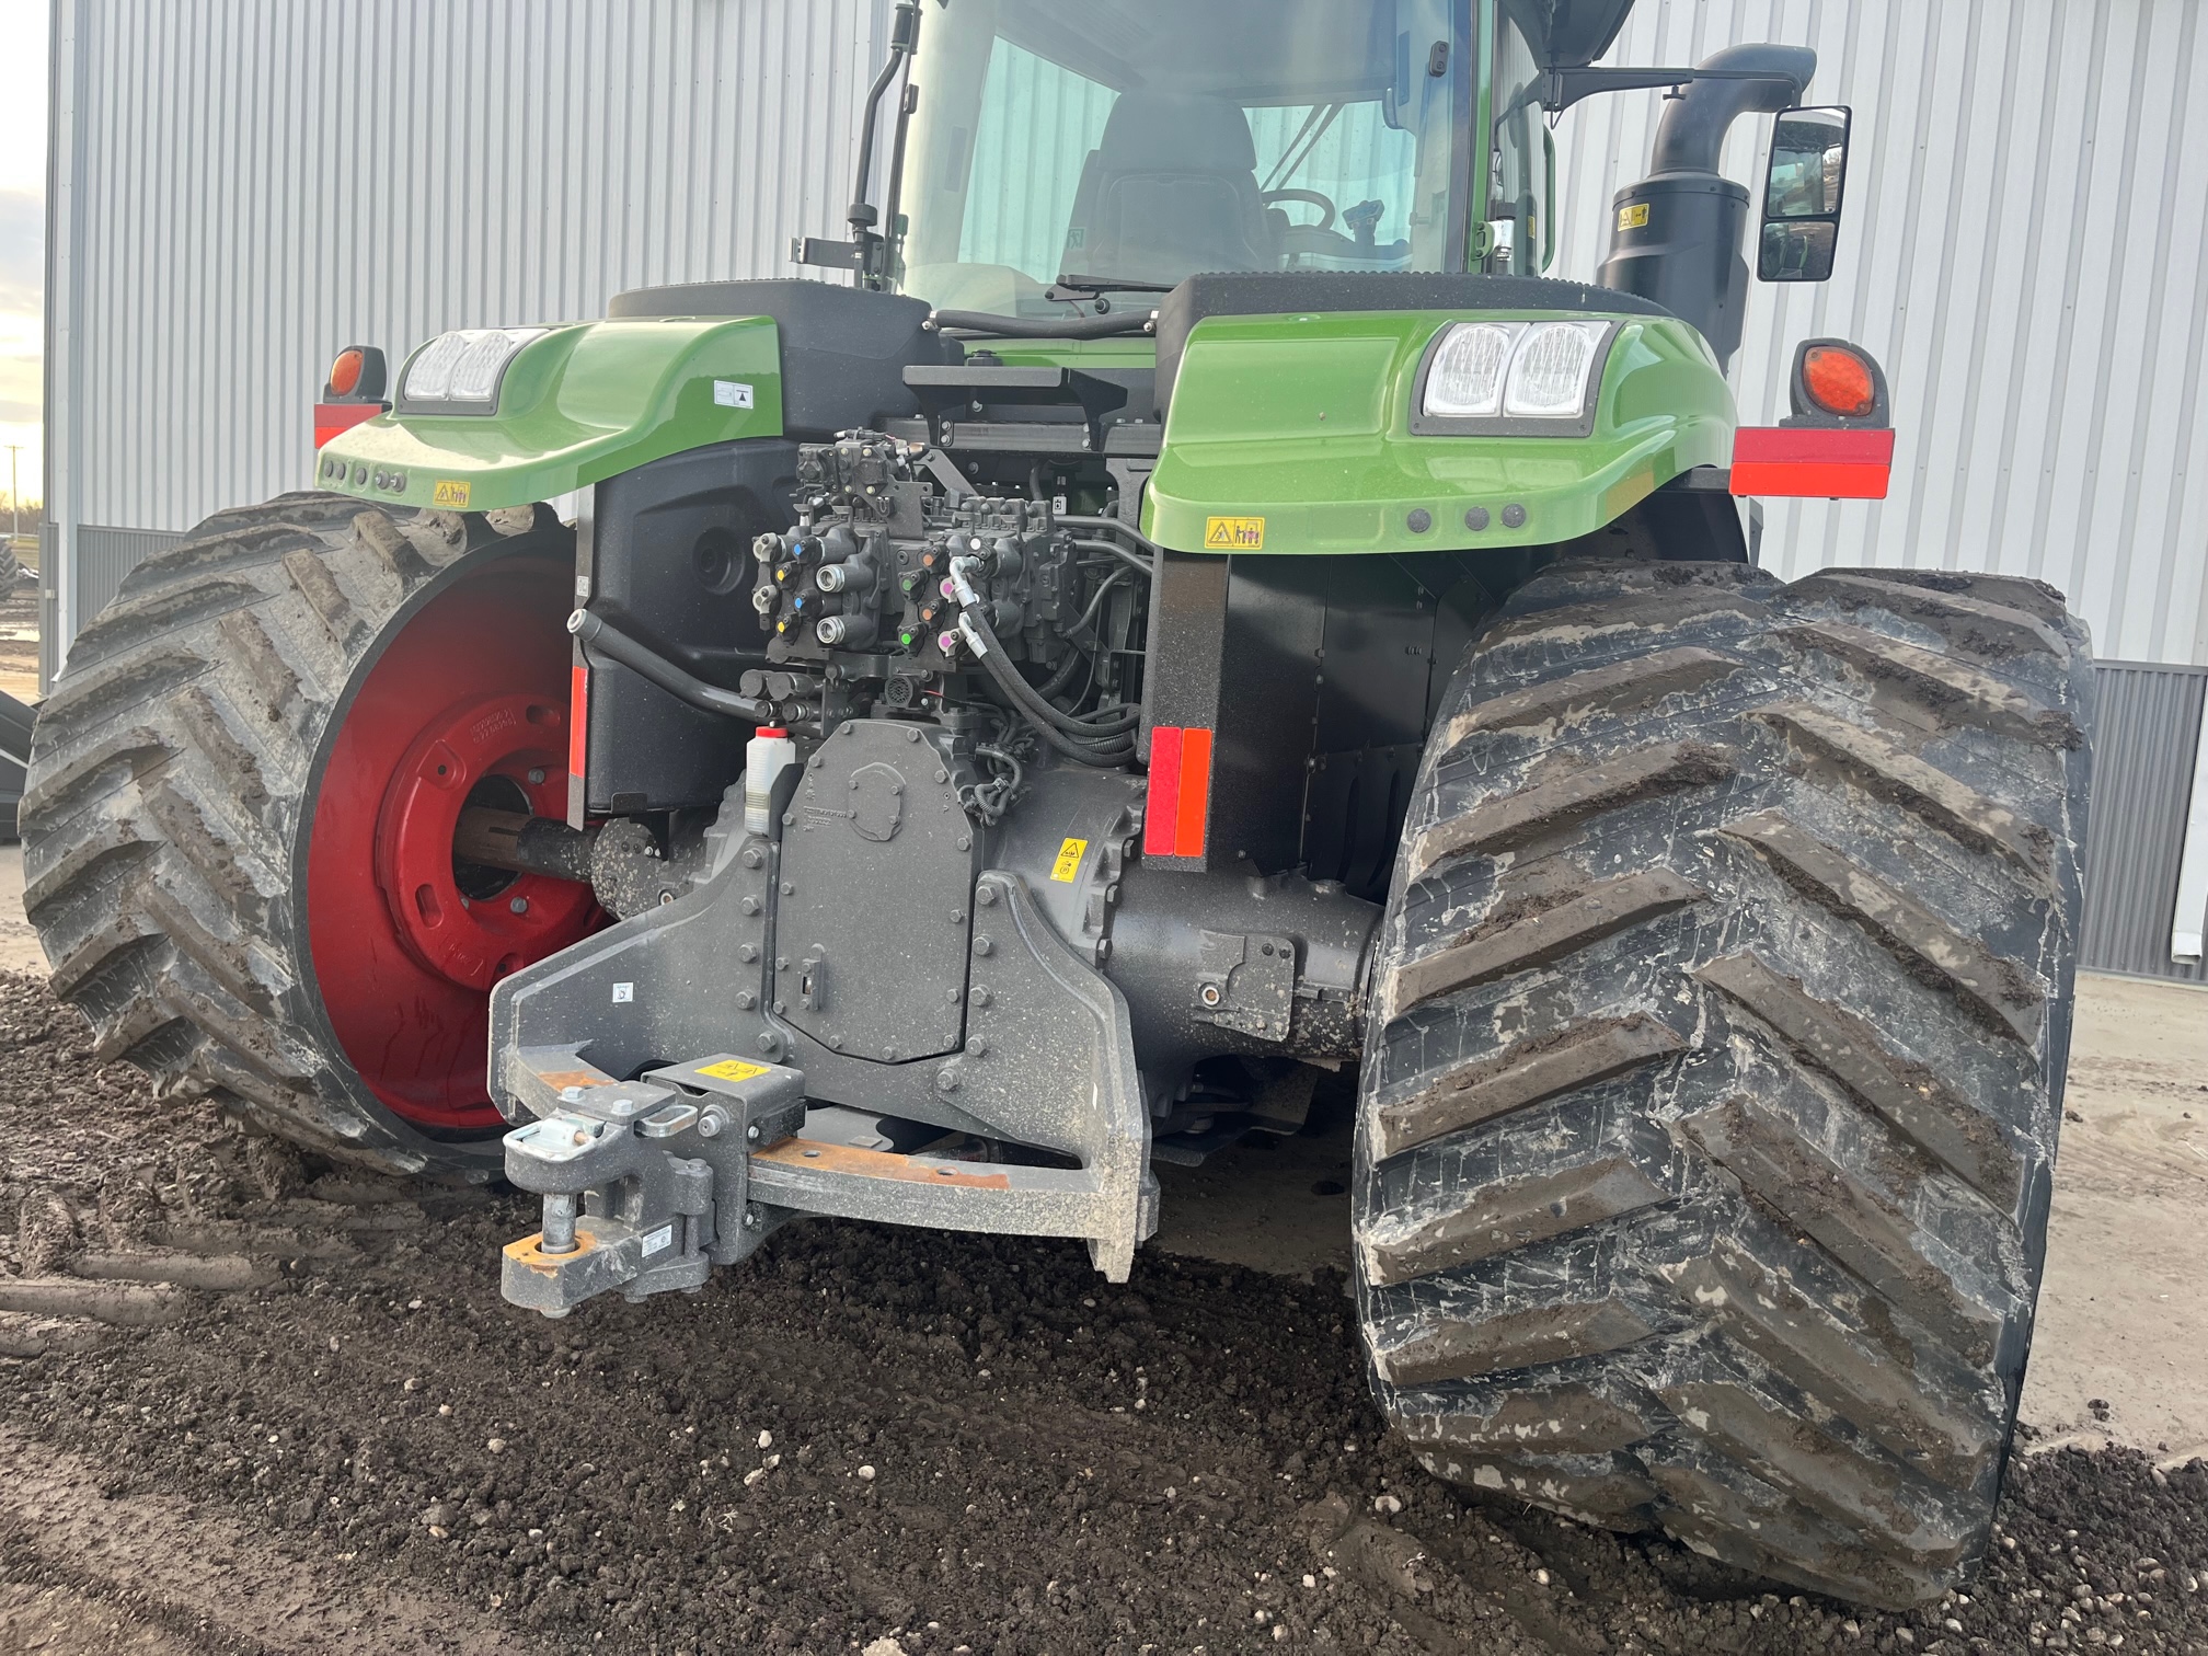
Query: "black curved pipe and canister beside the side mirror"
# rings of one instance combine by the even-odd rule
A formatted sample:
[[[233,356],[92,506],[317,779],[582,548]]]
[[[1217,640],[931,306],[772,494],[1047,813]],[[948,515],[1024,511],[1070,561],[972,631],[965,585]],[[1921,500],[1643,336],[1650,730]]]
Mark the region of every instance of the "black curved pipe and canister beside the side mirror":
[[[1709,79],[1667,99],[1649,177],[1610,203],[1610,258],[1594,280],[1694,322],[1729,367],[1749,302],[1742,236],[1749,192],[1718,172],[1733,121],[1793,108],[1817,73],[1808,46],[1727,46],[1696,64]]]

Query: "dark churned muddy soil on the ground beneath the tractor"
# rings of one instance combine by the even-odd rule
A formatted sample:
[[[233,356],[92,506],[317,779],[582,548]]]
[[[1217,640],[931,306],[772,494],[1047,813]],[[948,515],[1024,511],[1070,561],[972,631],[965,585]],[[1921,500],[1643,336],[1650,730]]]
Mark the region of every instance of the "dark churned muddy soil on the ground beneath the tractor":
[[[0,1649],[2208,1652],[2204,1462],[2018,1457],[1859,1612],[1435,1484],[1325,1267],[815,1223],[545,1323],[519,1201],[309,1179],[15,976],[0,1146]]]

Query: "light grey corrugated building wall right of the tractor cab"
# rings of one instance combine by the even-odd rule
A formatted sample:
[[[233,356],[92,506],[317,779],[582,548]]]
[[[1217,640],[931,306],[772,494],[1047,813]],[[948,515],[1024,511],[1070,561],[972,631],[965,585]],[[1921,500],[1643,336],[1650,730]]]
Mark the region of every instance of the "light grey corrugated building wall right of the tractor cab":
[[[1764,561],[1998,570],[2069,594],[2109,658],[2208,665],[2208,7],[2197,0],[1641,0],[1607,62],[1817,49],[1855,106],[1822,287],[1755,283],[1740,413],[1786,413],[1793,344],[1837,333],[1894,393],[1888,501],[1773,501]],[[1557,272],[1590,280],[1658,93],[1563,115]],[[1727,177],[1762,201],[1771,121]]]

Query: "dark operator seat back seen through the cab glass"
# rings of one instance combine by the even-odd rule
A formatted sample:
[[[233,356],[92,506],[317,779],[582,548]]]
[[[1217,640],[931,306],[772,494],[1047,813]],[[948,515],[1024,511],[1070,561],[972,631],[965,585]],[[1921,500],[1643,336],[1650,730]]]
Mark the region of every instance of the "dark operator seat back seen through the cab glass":
[[[1082,168],[1060,269],[1177,283],[1199,269],[1278,269],[1239,104],[1122,93]]]

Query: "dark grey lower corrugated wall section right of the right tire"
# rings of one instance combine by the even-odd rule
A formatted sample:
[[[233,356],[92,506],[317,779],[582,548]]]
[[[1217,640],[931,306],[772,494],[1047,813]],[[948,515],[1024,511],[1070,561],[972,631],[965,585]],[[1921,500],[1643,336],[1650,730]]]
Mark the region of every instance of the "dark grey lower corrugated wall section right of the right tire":
[[[2204,667],[2100,665],[2078,941],[2087,969],[2208,983],[2199,963],[2170,960],[2204,696]]]

